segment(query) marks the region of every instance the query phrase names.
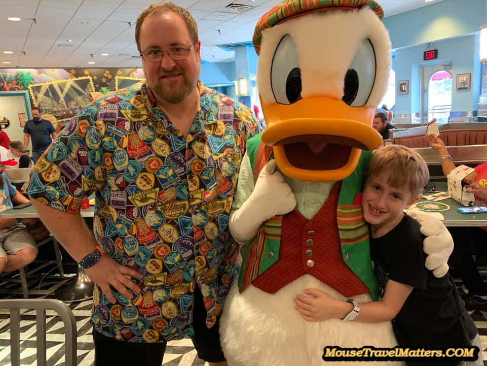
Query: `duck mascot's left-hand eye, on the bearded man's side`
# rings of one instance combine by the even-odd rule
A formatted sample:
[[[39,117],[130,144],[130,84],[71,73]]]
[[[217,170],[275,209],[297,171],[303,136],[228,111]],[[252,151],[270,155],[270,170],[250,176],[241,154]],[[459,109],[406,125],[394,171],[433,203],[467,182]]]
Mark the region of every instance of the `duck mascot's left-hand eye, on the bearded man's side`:
[[[279,42],[271,66],[271,87],[279,104],[293,104],[301,99],[301,69],[297,59],[296,45],[286,35]]]

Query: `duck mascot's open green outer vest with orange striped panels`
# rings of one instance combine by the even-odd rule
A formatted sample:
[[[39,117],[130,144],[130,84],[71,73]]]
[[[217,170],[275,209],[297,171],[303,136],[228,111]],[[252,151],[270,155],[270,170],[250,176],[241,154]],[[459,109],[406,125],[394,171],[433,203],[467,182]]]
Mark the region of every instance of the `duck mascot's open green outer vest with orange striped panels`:
[[[252,171],[254,170],[260,137],[261,134],[247,141],[247,155],[250,159]],[[355,197],[362,191],[363,179],[371,154],[370,151],[362,151],[357,168],[342,181],[336,219],[340,242],[342,243],[343,260],[367,286],[373,300],[377,301],[379,300],[379,291],[370,258],[368,225],[363,220],[360,202],[354,204]],[[243,291],[254,279],[279,260],[279,254],[276,255],[276,253],[279,253],[281,242],[281,223],[282,216],[276,216],[266,221],[257,236],[249,245],[242,248],[242,269],[239,276],[240,291]],[[273,258],[264,255],[269,251],[275,254]]]

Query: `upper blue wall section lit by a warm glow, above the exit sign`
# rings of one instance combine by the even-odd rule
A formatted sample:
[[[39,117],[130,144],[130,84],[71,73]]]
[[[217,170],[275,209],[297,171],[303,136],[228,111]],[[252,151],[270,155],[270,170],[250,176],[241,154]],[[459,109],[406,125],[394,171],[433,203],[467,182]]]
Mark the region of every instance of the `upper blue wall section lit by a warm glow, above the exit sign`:
[[[379,2],[380,3],[380,2]],[[486,23],[485,0],[445,0],[384,19],[392,48],[476,32]]]

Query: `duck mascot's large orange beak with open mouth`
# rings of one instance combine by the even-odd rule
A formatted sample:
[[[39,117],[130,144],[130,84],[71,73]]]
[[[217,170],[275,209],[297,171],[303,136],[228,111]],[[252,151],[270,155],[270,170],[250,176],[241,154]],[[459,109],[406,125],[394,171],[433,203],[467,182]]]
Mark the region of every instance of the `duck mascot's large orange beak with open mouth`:
[[[376,111],[371,107],[350,107],[325,96],[261,106],[268,126],[262,141],[273,146],[282,173],[294,179],[343,180],[356,168],[361,150],[382,144],[371,127]]]

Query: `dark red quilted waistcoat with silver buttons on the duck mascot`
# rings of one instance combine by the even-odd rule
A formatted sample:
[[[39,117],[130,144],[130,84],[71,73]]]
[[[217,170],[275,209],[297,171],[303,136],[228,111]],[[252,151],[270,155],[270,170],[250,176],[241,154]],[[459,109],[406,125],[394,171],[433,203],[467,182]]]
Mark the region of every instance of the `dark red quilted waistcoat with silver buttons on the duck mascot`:
[[[310,274],[347,297],[368,292],[343,260],[336,222],[340,186],[340,182],[335,184],[325,204],[311,220],[296,209],[283,216],[279,260],[258,276],[253,286],[275,293],[295,279]]]

